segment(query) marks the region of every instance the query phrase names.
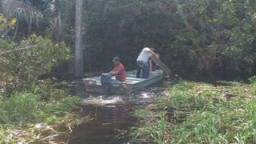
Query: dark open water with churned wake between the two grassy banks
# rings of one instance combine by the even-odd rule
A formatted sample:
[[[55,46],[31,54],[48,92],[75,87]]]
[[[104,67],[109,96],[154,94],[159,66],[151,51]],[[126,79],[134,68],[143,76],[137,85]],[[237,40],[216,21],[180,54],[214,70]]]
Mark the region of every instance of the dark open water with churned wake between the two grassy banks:
[[[90,114],[92,120],[76,126],[66,142],[74,144],[127,143],[127,130],[136,118],[130,116],[133,110],[149,105],[153,98],[164,94],[162,84],[139,90],[130,95],[110,95],[102,98],[101,94],[86,94],[80,81],[72,82],[71,94],[82,100],[82,116]],[[122,137],[119,137],[122,134]]]

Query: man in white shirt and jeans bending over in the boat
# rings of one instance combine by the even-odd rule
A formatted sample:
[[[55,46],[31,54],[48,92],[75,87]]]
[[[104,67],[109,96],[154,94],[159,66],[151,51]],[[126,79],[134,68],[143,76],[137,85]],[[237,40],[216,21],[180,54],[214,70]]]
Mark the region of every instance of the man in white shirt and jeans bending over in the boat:
[[[140,71],[142,70],[142,78],[150,78],[150,67],[148,65],[148,61],[150,56],[154,54],[154,47],[145,47],[142,49],[142,52],[138,55],[137,63],[138,70],[136,74],[136,78],[140,78]]]

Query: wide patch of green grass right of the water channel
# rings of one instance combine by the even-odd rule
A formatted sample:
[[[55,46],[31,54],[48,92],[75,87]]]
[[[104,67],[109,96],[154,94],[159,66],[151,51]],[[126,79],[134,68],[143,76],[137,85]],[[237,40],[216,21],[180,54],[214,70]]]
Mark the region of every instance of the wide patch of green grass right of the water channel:
[[[130,130],[134,142],[255,143],[256,82],[178,82]]]

